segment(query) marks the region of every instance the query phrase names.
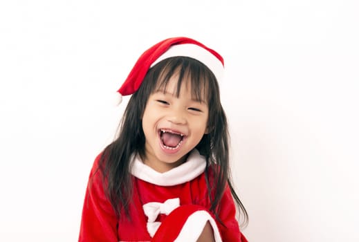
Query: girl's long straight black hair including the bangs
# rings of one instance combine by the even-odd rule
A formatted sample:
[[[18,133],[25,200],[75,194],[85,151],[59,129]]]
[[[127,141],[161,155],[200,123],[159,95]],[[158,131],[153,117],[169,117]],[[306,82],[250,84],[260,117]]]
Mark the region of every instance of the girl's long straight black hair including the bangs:
[[[209,108],[209,132],[203,135],[195,148],[205,157],[207,164],[205,178],[211,202],[210,211],[218,218],[219,202],[228,183],[239,207],[239,214],[243,215],[246,223],[248,214],[233,189],[230,177],[228,124],[221,106],[219,84],[207,66],[190,57],[171,57],[159,62],[149,69],[140,88],[131,96],[119,125],[118,137],[100,156],[99,169],[102,172],[105,194],[117,216],[122,216],[122,212],[125,212],[129,218],[127,208],[133,190],[131,157],[134,154],[142,156],[145,152],[142,115],[149,95],[158,89],[165,89],[171,77],[177,74],[176,95],[181,91],[181,84],[190,80],[194,99],[203,100],[204,97]],[[208,176],[210,170],[213,176]]]

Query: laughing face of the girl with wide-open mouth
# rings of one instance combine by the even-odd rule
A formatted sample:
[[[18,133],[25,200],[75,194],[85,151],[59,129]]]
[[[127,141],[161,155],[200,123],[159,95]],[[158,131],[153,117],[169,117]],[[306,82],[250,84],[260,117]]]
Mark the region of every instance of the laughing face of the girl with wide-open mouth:
[[[177,80],[177,75],[172,76],[165,90],[149,95],[142,116],[145,133],[145,157],[142,159],[159,172],[185,162],[187,153],[207,132],[207,102],[193,99],[190,80],[186,79],[177,97]]]

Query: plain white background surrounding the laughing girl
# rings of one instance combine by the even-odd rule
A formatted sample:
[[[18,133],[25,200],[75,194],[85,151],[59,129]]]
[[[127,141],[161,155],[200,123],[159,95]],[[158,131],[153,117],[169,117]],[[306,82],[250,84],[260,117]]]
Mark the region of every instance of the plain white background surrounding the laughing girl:
[[[93,159],[125,106],[111,95],[142,51],[180,35],[225,58],[249,241],[359,241],[358,12],[356,0],[1,1],[0,241],[77,241]]]

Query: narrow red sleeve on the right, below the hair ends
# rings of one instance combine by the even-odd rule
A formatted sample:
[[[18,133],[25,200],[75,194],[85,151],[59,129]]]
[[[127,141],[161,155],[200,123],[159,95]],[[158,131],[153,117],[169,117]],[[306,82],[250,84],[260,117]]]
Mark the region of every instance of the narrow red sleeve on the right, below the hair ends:
[[[223,242],[248,242],[239,230],[239,223],[236,219],[236,206],[228,185],[225,186],[225,192],[219,202],[219,218],[223,223],[222,225],[217,221]]]

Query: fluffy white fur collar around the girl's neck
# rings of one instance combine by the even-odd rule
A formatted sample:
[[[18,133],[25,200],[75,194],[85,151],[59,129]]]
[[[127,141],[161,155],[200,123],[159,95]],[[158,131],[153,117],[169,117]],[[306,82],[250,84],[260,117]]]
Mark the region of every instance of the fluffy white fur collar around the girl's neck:
[[[155,171],[148,165],[145,165],[140,156],[134,156],[131,163],[131,174],[133,176],[160,186],[173,186],[186,183],[202,174],[205,170],[205,158],[196,149],[191,151],[186,162],[164,173]]]

